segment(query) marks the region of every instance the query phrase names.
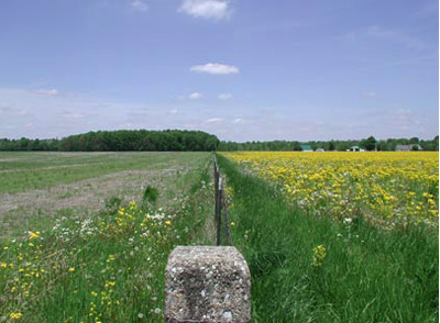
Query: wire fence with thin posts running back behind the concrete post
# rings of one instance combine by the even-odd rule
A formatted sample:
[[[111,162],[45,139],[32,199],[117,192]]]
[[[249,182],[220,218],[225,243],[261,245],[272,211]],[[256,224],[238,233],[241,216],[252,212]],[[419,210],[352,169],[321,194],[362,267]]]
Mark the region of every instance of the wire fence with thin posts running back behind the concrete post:
[[[216,229],[217,245],[232,246],[231,226],[228,218],[228,200],[224,192],[224,180],[220,175],[217,157],[213,155],[213,181],[215,181],[215,201],[216,201]],[[222,225],[223,223],[223,225]]]

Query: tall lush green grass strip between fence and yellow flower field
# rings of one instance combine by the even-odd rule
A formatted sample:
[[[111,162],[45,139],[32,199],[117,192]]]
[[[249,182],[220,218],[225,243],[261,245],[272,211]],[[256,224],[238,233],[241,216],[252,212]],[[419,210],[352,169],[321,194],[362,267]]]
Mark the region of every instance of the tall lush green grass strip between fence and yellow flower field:
[[[306,216],[219,156],[253,322],[438,322],[438,234]]]

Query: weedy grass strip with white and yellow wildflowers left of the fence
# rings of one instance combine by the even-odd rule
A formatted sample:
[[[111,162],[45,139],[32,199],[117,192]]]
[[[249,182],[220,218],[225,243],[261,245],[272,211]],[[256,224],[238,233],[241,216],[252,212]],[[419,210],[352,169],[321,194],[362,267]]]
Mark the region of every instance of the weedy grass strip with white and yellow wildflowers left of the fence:
[[[0,241],[0,322],[163,322],[170,250],[206,243],[212,189],[205,162],[175,179],[185,197],[174,212],[145,190],[144,201],[112,199],[94,216],[64,216],[45,232]]]

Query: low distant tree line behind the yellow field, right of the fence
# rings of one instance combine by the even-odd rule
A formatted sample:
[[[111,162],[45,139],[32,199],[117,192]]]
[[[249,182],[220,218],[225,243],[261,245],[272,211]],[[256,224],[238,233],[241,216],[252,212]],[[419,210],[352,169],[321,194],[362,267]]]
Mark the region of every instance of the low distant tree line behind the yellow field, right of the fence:
[[[339,151],[345,152],[353,146],[359,146],[365,151],[380,151],[380,152],[393,152],[396,151],[397,145],[414,145],[413,149],[416,151],[420,146],[424,151],[438,151],[439,149],[439,136],[432,140],[419,140],[418,137],[411,138],[389,138],[389,140],[376,140],[374,136],[370,136],[363,140],[353,141],[271,141],[271,142],[221,142],[218,146],[220,152],[234,152],[234,151],[302,151],[301,145],[309,145],[314,151],[322,148],[324,151]]]

